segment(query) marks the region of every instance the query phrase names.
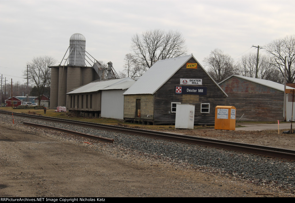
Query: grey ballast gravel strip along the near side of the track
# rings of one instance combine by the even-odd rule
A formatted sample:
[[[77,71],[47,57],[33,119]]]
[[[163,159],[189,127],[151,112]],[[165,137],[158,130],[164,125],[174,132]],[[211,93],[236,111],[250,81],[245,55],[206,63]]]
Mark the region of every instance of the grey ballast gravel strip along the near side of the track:
[[[186,143],[153,139],[144,136],[105,131],[92,128],[83,128],[75,125],[57,122],[42,121],[15,116],[14,125],[28,131],[35,128],[23,126],[22,122],[30,122],[58,128],[78,131],[114,139],[114,144],[108,145],[110,153],[117,156],[142,156],[161,163],[178,164],[179,167],[192,167],[200,171],[221,174],[223,176],[243,179],[273,190],[284,190],[295,194],[295,162],[276,158],[263,157],[230,150],[204,147]],[[11,116],[0,114],[3,123],[11,120]],[[60,138],[61,139],[61,138]],[[62,138],[75,142],[73,136]],[[89,142],[98,142],[92,141]],[[93,150],[101,150],[99,145],[89,145]],[[120,153],[122,155],[120,155]]]

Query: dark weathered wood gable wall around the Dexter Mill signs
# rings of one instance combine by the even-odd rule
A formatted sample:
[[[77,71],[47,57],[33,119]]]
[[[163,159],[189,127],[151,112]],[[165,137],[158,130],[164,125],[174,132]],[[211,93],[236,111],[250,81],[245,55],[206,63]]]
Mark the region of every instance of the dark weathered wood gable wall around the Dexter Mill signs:
[[[196,63],[190,59],[188,63]],[[197,69],[187,69],[183,65],[160,89],[154,97],[154,124],[175,123],[176,113],[171,112],[171,102],[195,105],[194,124],[214,124],[215,107],[226,104],[226,95],[212,81],[206,72],[197,65]],[[180,85],[181,78],[202,79],[202,85]],[[175,86],[207,87],[207,95],[176,95]],[[201,103],[210,104],[209,113],[201,113]]]

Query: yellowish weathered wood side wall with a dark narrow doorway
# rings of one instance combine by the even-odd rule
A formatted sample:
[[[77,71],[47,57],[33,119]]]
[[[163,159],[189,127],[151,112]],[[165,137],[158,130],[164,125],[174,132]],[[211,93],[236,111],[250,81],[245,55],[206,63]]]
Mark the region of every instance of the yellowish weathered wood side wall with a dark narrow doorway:
[[[136,118],[136,99],[141,103],[141,119],[154,119],[154,95],[124,95],[124,118]],[[149,116],[148,116],[149,115]]]

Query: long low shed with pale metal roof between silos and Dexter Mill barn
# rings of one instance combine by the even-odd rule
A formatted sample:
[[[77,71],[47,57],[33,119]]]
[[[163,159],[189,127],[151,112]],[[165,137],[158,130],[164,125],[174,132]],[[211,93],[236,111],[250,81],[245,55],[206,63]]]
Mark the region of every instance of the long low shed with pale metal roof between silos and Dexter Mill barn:
[[[70,111],[89,113],[90,117],[101,114],[106,118],[123,119],[124,96],[135,81],[129,77],[96,80],[68,92]]]

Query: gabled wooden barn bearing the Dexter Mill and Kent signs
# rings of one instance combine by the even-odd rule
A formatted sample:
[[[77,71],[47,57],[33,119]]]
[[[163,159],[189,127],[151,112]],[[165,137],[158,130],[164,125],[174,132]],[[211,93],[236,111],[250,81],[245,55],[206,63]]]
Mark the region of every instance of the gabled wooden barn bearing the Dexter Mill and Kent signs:
[[[194,124],[214,124],[227,94],[193,55],[157,61],[124,94],[124,120],[174,124],[176,104],[195,105]]]

